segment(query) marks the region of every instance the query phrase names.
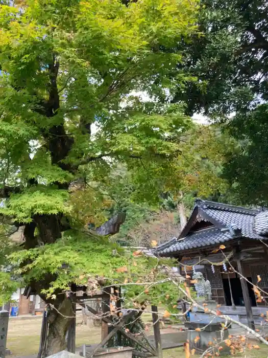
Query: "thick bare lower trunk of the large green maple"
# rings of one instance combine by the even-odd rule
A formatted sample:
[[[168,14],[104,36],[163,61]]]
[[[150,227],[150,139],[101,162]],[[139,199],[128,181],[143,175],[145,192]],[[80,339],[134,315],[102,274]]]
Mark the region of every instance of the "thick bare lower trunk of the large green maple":
[[[48,316],[48,333],[44,357],[56,354],[67,348],[66,334],[71,323],[73,312],[72,303],[69,298],[53,309]]]

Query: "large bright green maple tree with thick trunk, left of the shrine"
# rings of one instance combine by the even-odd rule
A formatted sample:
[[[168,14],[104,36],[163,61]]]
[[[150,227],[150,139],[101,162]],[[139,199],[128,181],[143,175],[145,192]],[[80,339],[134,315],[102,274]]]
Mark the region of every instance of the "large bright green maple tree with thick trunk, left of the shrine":
[[[125,272],[119,248],[84,228],[90,217],[103,222],[97,213],[109,200],[99,189],[114,169],[127,168],[133,200],[156,203],[163,190],[180,187],[174,176],[180,138],[192,123],[181,103],[158,99],[173,91],[169,74],[183,61],[174,47],[197,31],[197,11],[198,2],[186,0],[26,0],[0,7],[0,214],[4,223],[24,227],[25,240],[3,254],[3,280],[19,276],[53,302],[47,355],[65,348],[69,284]],[[87,196],[79,208],[74,188],[81,183]],[[144,265],[142,275],[152,267]],[[1,300],[14,289],[9,282]]]

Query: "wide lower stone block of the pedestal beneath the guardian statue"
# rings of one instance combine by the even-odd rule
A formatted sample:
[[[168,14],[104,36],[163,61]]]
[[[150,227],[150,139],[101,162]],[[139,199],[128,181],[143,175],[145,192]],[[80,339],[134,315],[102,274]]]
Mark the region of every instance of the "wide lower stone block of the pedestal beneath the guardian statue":
[[[185,327],[188,328],[187,339],[190,343],[190,349],[196,349],[196,354],[202,354],[207,348],[219,346],[223,347],[220,351],[215,348],[215,352],[219,352],[221,355],[230,354],[230,348],[224,343],[224,340],[228,339],[228,329],[222,330],[220,323],[200,323],[200,322],[185,322]],[[201,331],[196,331],[200,328]],[[197,339],[199,337],[199,339]],[[212,343],[212,344],[211,344]]]

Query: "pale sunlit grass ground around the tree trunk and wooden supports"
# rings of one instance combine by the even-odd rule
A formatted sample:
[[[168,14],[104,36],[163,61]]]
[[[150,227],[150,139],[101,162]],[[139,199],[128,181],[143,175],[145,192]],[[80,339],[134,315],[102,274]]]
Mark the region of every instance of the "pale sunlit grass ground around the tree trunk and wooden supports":
[[[148,320],[150,318],[148,317]],[[146,320],[146,319],[145,319]],[[27,356],[38,352],[41,331],[41,319],[10,320],[7,347],[12,356]],[[179,334],[179,332],[178,332]],[[78,325],[76,328],[76,344],[93,344],[101,341],[101,327]],[[267,358],[268,346],[259,345],[260,349],[246,350],[245,354],[236,357]],[[11,356],[11,357],[12,357]],[[163,351],[163,358],[185,358],[183,348],[167,349]]]

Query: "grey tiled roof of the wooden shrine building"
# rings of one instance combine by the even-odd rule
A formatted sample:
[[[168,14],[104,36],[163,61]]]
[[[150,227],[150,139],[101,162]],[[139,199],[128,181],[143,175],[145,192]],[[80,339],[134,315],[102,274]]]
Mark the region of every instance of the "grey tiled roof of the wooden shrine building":
[[[201,217],[203,215],[207,221],[211,219],[214,226],[196,232],[189,230],[185,237],[173,238],[157,247],[158,254],[168,255],[179,251],[216,245],[237,237],[268,238],[268,235],[266,237],[259,235],[259,227],[268,228],[267,216],[261,215],[263,211],[260,209],[235,207],[205,200],[197,200],[194,208],[198,208],[198,214]],[[196,213],[197,210],[194,210],[194,212]],[[257,220],[255,220],[256,216]],[[192,217],[189,221],[191,219]],[[258,224],[257,228],[256,223]]]

